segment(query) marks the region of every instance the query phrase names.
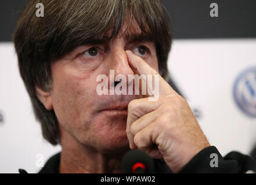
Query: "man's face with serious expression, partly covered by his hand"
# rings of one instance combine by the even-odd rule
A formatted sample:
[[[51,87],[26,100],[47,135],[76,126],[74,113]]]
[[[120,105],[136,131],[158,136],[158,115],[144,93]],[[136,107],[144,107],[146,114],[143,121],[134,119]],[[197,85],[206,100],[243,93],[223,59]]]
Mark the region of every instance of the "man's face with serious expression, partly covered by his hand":
[[[110,70],[114,70],[115,76],[127,76],[127,80],[128,75],[134,75],[125,50],[139,55],[158,71],[154,43],[133,39],[132,35],[140,34],[138,25],[132,23],[122,34],[125,28],[126,24],[117,39],[76,47],[52,64],[51,98],[60,129],[105,153],[128,148],[127,106],[136,95],[98,95],[97,76],[106,75],[110,80]],[[106,36],[110,36],[109,32]]]

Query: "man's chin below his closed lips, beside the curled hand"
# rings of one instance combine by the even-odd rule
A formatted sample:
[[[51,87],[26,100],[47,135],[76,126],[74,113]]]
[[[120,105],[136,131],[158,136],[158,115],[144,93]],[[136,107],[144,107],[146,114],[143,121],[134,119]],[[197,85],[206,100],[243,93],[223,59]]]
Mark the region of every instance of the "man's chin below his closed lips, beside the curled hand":
[[[129,149],[126,133],[127,115],[116,112],[101,112],[86,123],[86,130],[80,131],[81,143],[88,145],[100,153],[118,154]],[[83,134],[81,134],[83,133]]]

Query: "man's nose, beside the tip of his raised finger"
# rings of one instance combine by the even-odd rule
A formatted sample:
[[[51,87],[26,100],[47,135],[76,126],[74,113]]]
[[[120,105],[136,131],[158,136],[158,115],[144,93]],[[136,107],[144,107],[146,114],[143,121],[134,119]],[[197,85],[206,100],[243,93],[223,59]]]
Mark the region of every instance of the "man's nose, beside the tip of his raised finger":
[[[122,80],[125,80],[125,82],[121,82],[122,86],[126,84],[128,88],[129,83],[132,81],[129,76],[134,75],[134,72],[129,66],[125,49],[121,46],[114,47],[110,52],[109,60],[109,69],[114,70],[114,77],[109,77],[109,88],[110,86],[116,86]],[[113,71],[111,71],[110,75],[113,75]]]

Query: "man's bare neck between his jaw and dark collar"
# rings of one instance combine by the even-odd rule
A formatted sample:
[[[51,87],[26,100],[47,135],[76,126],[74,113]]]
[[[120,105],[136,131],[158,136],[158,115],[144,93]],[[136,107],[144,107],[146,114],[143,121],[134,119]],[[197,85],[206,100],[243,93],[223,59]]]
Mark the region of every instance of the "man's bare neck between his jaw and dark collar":
[[[123,153],[103,153],[68,134],[61,135],[60,173],[121,173]],[[126,150],[127,151],[127,150]]]

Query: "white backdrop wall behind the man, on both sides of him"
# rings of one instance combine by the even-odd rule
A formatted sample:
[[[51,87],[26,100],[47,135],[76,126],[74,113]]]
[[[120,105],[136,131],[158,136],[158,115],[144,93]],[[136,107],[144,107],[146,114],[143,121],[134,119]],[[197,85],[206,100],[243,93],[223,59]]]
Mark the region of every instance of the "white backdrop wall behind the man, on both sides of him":
[[[248,154],[256,143],[256,119],[236,105],[233,85],[239,73],[256,66],[256,39],[174,40],[168,67],[199,123],[224,156],[231,150]],[[61,150],[42,139],[30,99],[19,75],[12,43],[0,43],[0,173],[19,168],[38,172],[38,157]]]

